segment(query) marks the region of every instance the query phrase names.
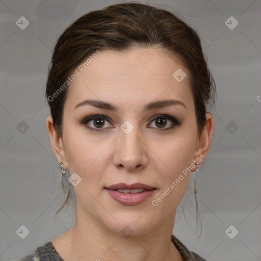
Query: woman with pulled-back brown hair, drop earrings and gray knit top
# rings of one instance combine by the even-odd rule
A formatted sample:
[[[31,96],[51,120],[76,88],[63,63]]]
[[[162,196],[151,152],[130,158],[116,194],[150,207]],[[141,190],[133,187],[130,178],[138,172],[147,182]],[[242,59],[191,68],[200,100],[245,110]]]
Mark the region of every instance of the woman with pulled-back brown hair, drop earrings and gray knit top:
[[[51,60],[46,127],[76,222],[20,260],[205,260],[172,229],[210,148],[214,94],[200,39],[174,14],[125,3],[74,21]]]

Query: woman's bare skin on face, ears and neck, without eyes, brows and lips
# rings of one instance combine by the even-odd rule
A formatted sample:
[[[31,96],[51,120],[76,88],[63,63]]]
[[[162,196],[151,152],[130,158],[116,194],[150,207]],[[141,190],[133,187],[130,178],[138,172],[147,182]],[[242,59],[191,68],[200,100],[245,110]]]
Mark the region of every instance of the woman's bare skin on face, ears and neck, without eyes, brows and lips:
[[[178,68],[187,74],[181,82],[172,76]],[[75,225],[53,241],[57,252],[65,261],[182,260],[171,234],[176,207],[186,192],[190,174],[157,206],[151,202],[210,148],[213,117],[206,113],[205,127],[198,135],[187,68],[177,58],[153,48],[137,48],[125,54],[106,50],[67,91],[62,137],[57,135],[51,116],[46,127],[58,161],[82,181],[74,187]],[[87,98],[113,103],[119,111],[90,105],[73,109]],[[186,108],[174,105],[142,112],[145,103],[162,99],[182,101]],[[93,120],[80,124],[95,114],[110,119],[101,125],[101,132],[86,127],[98,129]],[[173,124],[170,120],[166,125],[151,121],[159,114],[173,116],[181,123],[162,131],[161,126],[167,129]],[[129,134],[120,129],[126,120],[134,126]],[[104,189],[118,182],[141,182],[156,191],[138,205],[125,206]],[[133,230],[129,238],[121,234],[126,225]]]

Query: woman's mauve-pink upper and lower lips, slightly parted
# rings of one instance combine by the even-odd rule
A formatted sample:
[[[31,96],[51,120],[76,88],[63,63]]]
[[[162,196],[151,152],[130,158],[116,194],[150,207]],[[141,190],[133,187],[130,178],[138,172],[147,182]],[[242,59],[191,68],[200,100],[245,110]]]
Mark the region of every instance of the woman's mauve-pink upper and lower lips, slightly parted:
[[[117,191],[117,189],[126,189],[126,190],[143,189],[144,191],[139,193],[123,193]],[[135,183],[132,185],[127,185],[125,183],[118,183],[108,188],[105,188],[105,190],[108,191],[110,196],[115,201],[128,206],[133,206],[142,203],[146,199],[150,198],[151,195],[156,191],[155,188],[150,187],[148,185],[144,185],[142,183]]]

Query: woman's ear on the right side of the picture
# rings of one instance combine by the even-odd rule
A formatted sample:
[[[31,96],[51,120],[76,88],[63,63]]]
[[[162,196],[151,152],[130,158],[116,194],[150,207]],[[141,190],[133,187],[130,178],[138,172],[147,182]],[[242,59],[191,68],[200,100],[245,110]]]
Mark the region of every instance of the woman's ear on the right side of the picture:
[[[197,158],[204,160],[208,153],[208,150],[210,150],[211,138],[214,129],[214,120],[211,113],[207,112],[205,116],[206,123],[197,141],[196,149],[194,152],[194,162],[196,162]],[[203,161],[200,163],[200,165],[202,165],[202,163]]]

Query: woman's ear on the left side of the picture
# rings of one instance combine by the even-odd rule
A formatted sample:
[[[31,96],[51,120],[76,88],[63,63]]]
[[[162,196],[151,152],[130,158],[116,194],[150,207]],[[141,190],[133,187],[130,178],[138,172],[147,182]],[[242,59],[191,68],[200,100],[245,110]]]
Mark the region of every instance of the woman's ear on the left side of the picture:
[[[69,169],[63,145],[63,138],[57,134],[53,117],[51,117],[51,115],[47,117],[46,129],[49,134],[51,146],[53,147],[57,160],[59,163],[63,162],[65,169]]]

